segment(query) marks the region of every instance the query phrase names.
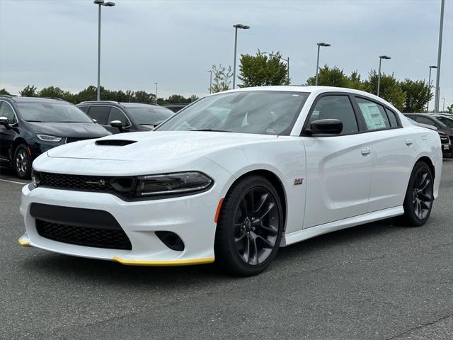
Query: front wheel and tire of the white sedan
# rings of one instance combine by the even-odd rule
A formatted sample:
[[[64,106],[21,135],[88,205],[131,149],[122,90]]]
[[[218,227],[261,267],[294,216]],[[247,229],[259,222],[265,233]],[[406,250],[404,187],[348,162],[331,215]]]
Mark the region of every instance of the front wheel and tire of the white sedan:
[[[250,176],[234,183],[217,222],[217,265],[229,273],[252,276],[265,270],[282,238],[282,203],[272,183]]]

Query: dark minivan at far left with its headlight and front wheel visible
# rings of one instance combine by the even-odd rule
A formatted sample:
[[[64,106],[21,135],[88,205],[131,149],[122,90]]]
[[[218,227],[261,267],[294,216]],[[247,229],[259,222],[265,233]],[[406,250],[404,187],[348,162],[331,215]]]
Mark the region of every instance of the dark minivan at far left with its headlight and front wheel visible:
[[[67,101],[0,96],[0,160],[30,178],[33,159],[52,147],[111,135]]]

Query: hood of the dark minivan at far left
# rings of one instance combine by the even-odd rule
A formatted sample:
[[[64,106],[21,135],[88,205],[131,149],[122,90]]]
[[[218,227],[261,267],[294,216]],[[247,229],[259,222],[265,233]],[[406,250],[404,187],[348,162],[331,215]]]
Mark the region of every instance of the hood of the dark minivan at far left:
[[[95,123],[28,123],[33,130],[42,135],[57,137],[98,138],[111,135],[101,125]]]

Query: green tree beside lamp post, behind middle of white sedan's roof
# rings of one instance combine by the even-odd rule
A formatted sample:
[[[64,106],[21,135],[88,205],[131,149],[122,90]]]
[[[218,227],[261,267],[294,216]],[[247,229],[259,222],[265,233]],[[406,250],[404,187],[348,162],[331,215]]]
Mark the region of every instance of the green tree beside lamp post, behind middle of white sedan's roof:
[[[288,66],[282,62],[280,52],[264,55],[241,55],[239,64],[239,87],[289,85]]]

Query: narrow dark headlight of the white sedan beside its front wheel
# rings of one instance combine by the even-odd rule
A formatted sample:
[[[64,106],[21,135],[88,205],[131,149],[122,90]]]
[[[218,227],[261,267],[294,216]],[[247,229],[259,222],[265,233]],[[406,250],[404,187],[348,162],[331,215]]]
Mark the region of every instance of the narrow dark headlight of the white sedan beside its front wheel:
[[[138,176],[134,196],[142,197],[203,191],[212,186],[212,183],[214,181],[210,177],[197,171]]]

